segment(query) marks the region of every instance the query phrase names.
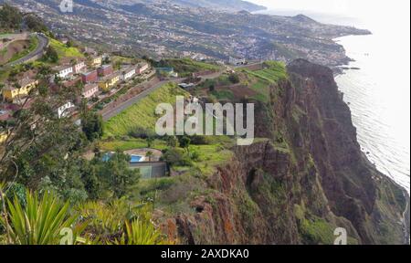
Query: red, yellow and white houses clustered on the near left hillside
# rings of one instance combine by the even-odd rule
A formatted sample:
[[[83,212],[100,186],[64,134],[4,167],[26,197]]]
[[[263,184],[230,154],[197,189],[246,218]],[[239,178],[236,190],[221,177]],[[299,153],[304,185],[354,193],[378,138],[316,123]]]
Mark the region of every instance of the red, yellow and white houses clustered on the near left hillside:
[[[59,89],[80,89],[76,98],[54,109],[58,118],[76,115],[80,103],[84,101],[91,109],[119,90],[153,78],[155,73],[144,60],[136,62],[128,59],[128,62],[116,62],[114,65],[110,55],[99,54],[90,47],[82,48],[80,54],[81,58],[61,58],[57,65],[50,68],[52,77],[48,79],[47,87],[51,94]],[[0,121],[13,119],[16,110],[28,109],[36,98],[39,69],[30,63],[2,83]],[[1,133],[0,142],[4,142],[7,131]]]

